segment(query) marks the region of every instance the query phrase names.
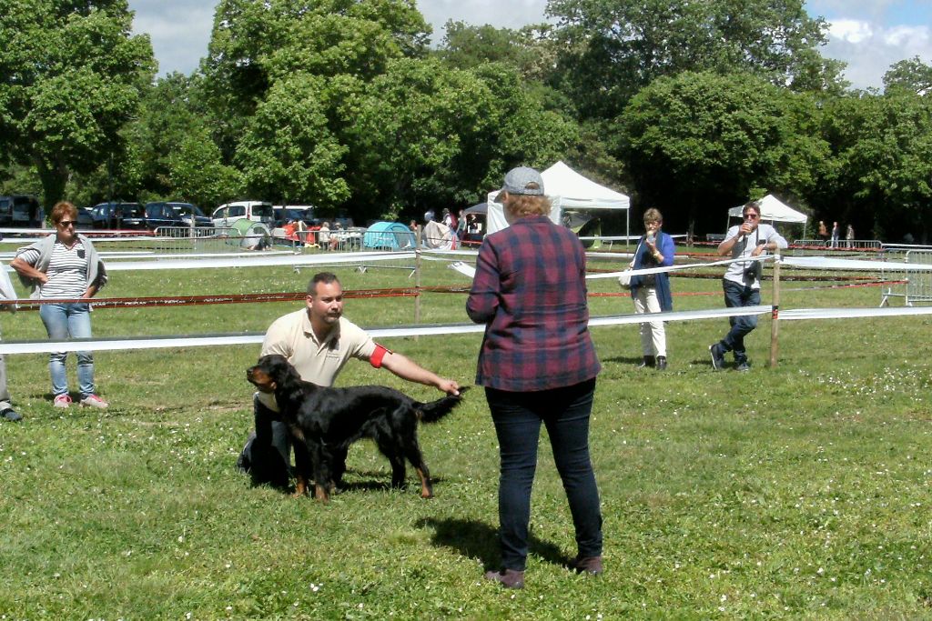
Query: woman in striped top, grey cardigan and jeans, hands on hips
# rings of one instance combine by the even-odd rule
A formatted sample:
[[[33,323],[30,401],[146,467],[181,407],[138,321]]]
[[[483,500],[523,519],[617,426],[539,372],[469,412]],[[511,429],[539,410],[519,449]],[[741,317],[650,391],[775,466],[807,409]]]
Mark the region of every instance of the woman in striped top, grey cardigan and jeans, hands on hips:
[[[39,307],[39,317],[46,326],[48,338],[54,341],[90,338],[89,300],[106,283],[106,270],[90,240],[75,231],[77,209],[74,205],[66,201],[55,205],[51,221],[55,235],[18,250],[10,266],[19,273],[23,283],[33,289],[31,297],[61,300]],[[54,352],[48,359],[56,408],[68,408],[72,403],[65,371],[67,356],[67,352]],[[77,381],[81,405],[107,407],[107,402],[97,396],[94,358],[89,351],[77,352]]]

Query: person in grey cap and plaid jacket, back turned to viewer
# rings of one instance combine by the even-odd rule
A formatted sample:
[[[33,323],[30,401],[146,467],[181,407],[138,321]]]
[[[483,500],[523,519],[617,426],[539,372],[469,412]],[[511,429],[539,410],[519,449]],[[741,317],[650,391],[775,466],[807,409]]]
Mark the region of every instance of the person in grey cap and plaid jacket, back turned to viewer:
[[[466,312],[486,324],[476,384],[486,386],[500,446],[501,570],[486,577],[520,588],[541,423],[576,530],[571,568],[602,571],[602,516],[589,458],[589,414],[601,367],[588,330],[583,245],[547,217],[541,174],[511,170],[496,200],[509,226],[479,249]]]

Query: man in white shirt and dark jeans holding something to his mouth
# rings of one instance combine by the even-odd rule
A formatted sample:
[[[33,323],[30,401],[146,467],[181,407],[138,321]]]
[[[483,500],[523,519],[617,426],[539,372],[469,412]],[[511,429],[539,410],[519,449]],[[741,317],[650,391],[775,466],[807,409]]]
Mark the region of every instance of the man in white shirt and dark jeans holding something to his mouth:
[[[751,201],[742,209],[742,223],[728,229],[725,240],[719,244],[721,256],[731,255],[735,261],[728,266],[721,281],[725,291],[725,305],[757,306],[761,304],[761,267],[760,261],[750,261],[765,250],[787,248],[787,240],[776,232],[770,224],[761,224],[761,206]],[[750,371],[745,349],[745,336],[757,328],[757,316],[744,315],[729,317],[732,329],[721,341],[709,345],[712,355],[712,368],[716,371],[725,367],[725,353],[734,352],[734,368],[737,371]]]

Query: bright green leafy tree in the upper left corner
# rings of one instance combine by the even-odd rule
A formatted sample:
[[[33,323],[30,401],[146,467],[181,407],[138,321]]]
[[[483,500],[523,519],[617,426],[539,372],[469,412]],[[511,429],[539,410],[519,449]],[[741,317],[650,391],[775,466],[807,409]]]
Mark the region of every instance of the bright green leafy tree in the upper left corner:
[[[155,72],[126,0],[9,0],[0,10],[0,151],[35,167],[48,208],[72,171],[120,151]]]

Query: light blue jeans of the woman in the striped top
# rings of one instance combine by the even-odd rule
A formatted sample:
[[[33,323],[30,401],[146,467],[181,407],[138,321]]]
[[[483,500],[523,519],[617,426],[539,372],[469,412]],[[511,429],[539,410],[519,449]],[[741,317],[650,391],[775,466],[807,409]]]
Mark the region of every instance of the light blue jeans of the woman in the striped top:
[[[90,338],[90,308],[86,302],[70,304],[42,304],[39,317],[46,326],[48,338],[64,341],[69,338]],[[55,397],[68,394],[68,375],[64,362],[68,352],[55,352],[48,357],[48,372],[52,376],[52,394]],[[81,398],[95,394],[94,355],[77,352],[77,383]]]

